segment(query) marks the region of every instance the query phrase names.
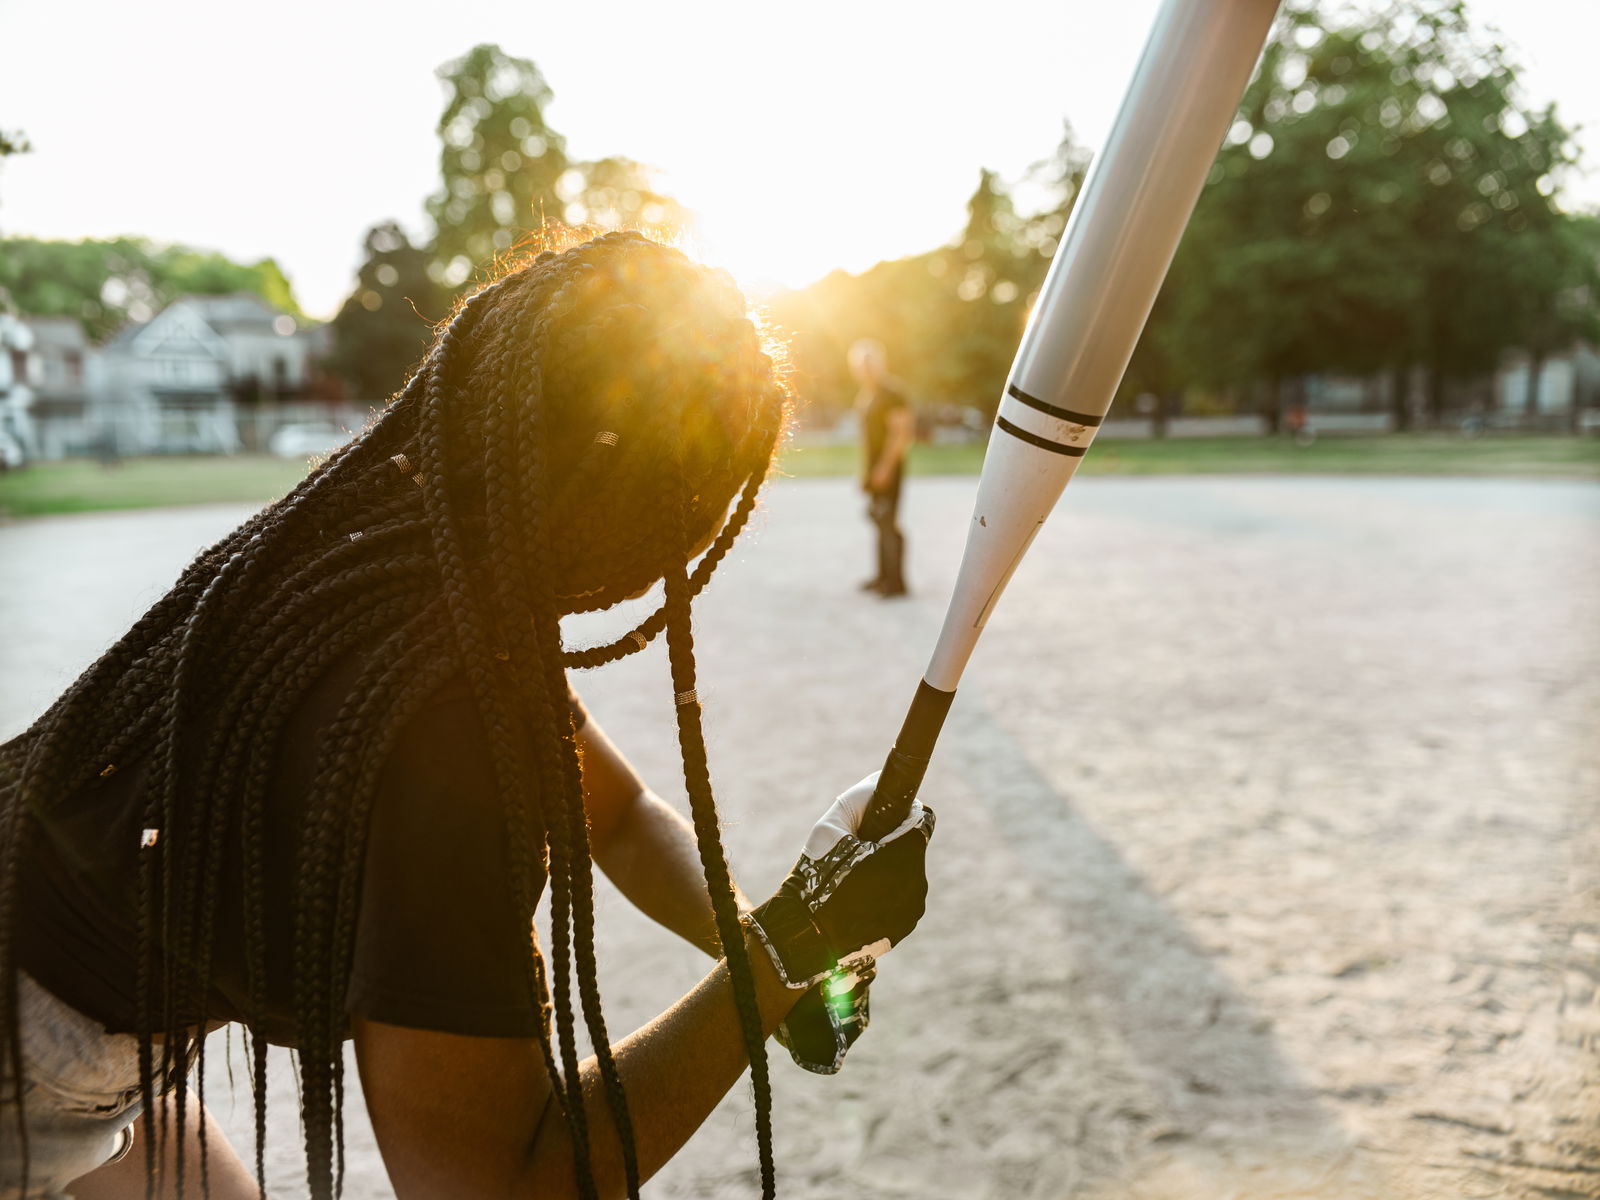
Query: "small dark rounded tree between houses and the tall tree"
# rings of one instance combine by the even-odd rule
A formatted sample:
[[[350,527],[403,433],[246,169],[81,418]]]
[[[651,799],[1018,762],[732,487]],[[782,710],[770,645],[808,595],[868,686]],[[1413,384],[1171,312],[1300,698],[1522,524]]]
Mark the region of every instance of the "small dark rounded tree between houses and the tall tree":
[[[400,390],[450,301],[429,274],[429,253],[398,224],[374,226],[363,245],[355,291],[333,318],[328,366],[357,398],[376,402]]]

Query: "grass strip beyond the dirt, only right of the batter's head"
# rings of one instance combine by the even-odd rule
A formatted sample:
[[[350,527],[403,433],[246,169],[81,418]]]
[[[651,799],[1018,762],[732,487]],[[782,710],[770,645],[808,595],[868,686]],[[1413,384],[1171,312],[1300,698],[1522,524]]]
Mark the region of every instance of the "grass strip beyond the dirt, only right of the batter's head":
[[[914,446],[915,475],[973,475],[984,448]],[[854,475],[858,446],[797,445],[782,459],[789,475]],[[1504,475],[1600,480],[1600,438],[1499,434],[1323,435],[1309,446],[1267,437],[1182,437],[1094,442],[1082,470],[1091,475]]]

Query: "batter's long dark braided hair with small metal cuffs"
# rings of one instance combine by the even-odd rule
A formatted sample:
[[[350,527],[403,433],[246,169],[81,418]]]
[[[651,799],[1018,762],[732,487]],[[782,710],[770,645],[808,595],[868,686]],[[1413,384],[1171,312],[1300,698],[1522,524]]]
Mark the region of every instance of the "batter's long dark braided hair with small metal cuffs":
[[[205,550],[178,584],[21,738],[0,747],[0,1062],[21,1112],[14,926],[37,821],[96,776],[139,763],[139,1077],[187,1106],[187,1030],[205,1018],[224,933],[221,872],[242,874],[256,1178],[266,1194],[269,987],[264,834],[282,734],[331,664],[360,675],[320,742],[299,830],[294,1040],[312,1197],[342,1187],[342,1011],[360,914],[366,818],[408,718],[464,678],[506,814],[526,986],[579,1190],[595,1194],[576,1024],[592,1042],[638,1163],[595,981],[594,885],[571,667],[666,634],[683,773],[752,1064],[763,1192],[771,1093],[754,976],[718,838],[694,701],[691,598],[749,520],[787,418],[781,368],[720,272],[634,234],[544,251],[467,298],[368,430],[290,496]],[[710,547],[694,562],[696,547]],[[563,646],[560,618],[664,584],[664,603],[600,646]],[[531,936],[541,874],[550,946]],[[573,990],[576,982],[576,1011]],[[160,1040],[157,1037],[160,1035]],[[195,1046],[203,1096],[205,1042]],[[163,1109],[163,1114],[166,1109]],[[146,1139],[155,1179],[158,1141]],[[26,1128],[22,1130],[26,1154]],[[202,1141],[202,1147],[205,1142]],[[182,1138],[176,1178],[182,1192]],[[206,1162],[197,1163],[202,1190]]]

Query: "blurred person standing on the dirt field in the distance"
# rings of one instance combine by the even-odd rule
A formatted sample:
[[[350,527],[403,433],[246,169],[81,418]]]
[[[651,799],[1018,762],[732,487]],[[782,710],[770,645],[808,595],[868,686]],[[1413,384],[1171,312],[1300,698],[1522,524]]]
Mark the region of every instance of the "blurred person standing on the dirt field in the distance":
[[[850,347],[850,371],[861,384],[856,411],[866,451],[861,490],[867,493],[867,518],[878,533],[877,573],[862,592],[883,598],[906,595],[906,538],[899,530],[899,496],[906,475],[906,451],[912,440],[910,403],[899,381],[888,373],[882,342],[862,338]]]

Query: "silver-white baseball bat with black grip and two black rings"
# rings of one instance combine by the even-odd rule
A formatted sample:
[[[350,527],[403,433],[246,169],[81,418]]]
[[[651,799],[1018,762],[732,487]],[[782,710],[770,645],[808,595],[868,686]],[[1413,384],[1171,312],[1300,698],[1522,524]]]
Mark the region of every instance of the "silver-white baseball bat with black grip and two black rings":
[[[1011,363],[944,627],[862,837],[906,818],[978,635],[1110,408],[1277,10],[1163,0]]]

